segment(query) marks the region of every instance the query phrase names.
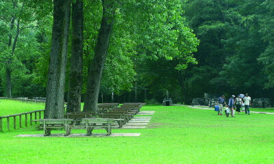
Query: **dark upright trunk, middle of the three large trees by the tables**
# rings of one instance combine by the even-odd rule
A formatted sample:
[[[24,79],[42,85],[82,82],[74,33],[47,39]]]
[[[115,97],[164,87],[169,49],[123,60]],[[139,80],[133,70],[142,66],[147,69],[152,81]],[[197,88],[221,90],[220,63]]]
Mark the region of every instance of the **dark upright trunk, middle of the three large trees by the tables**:
[[[72,5],[71,71],[66,112],[81,111],[83,78],[83,1]]]

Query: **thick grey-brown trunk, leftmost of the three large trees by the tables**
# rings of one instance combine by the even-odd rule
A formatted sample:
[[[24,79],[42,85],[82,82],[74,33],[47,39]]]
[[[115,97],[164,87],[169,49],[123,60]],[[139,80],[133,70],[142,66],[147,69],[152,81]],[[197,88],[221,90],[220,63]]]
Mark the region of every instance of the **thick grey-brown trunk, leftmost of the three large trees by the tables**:
[[[45,118],[64,118],[64,82],[69,38],[71,0],[53,1],[51,57],[47,77]]]

